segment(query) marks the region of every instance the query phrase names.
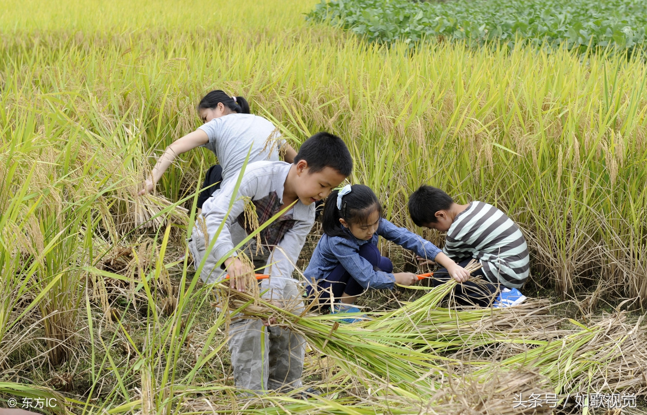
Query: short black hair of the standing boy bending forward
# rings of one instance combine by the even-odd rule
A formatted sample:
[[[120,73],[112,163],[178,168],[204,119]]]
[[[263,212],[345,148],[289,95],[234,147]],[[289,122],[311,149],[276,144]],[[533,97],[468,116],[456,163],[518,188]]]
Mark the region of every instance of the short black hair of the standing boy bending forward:
[[[353,172],[353,158],[344,140],[323,131],[303,142],[294,157],[294,164],[300,160],[307,161],[310,173],[321,172],[326,167],[334,168],[346,177]]]

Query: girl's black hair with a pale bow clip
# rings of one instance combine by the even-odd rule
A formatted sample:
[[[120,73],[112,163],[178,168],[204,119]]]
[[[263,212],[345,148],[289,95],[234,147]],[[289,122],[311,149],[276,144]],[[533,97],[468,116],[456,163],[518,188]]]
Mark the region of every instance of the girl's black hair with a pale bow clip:
[[[322,227],[323,233],[328,236],[348,237],[339,222],[340,218],[344,219],[349,225],[351,223],[366,223],[368,217],[375,210],[382,218],[382,205],[380,205],[380,201],[378,201],[377,196],[369,186],[351,186],[351,192],[342,196],[341,210],[337,208],[338,194],[339,190],[333,190],[330,196],[327,197],[325,205],[323,205]]]

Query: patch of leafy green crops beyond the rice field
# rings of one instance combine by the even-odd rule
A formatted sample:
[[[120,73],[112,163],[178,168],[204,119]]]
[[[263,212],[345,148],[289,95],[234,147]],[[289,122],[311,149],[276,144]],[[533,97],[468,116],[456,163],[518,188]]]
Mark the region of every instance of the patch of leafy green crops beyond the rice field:
[[[620,0],[333,0],[322,1],[307,17],[370,41],[403,41],[412,47],[435,39],[631,50],[642,47],[646,11],[643,1]]]

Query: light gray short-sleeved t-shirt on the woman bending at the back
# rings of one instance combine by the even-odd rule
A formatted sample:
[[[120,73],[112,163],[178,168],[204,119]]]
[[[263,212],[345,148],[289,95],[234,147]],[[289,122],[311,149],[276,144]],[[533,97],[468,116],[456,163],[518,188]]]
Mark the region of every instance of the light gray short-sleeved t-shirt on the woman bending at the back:
[[[214,151],[223,167],[221,187],[229,179],[236,180],[250,148],[248,163],[279,160],[281,134],[272,122],[258,115],[228,114],[198,128],[209,137],[209,142],[201,147]]]

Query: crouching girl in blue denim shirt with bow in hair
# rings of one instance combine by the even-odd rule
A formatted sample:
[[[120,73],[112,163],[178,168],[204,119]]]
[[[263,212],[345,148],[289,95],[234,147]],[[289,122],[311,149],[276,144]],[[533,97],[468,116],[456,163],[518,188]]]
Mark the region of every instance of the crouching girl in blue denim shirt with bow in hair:
[[[457,280],[469,278],[463,267],[433,243],[382,218],[382,205],[368,186],[346,185],[332,192],[323,208],[322,225],[323,236],[303,274],[308,295],[331,306],[333,313],[359,312],[353,303],[367,289],[417,282],[415,274],[393,273],[391,260],[377,249],[378,236],[438,262]]]

